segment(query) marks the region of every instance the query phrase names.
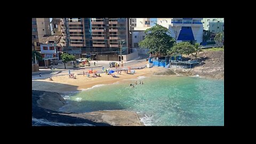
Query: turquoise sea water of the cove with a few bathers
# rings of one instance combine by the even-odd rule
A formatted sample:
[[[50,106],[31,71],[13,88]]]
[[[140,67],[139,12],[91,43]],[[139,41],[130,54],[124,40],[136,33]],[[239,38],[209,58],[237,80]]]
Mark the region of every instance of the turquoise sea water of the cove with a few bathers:
[[[153,76],[96,86],[66,98],[62,111],[130,110],[145,125],[224,125],[223,80]]]

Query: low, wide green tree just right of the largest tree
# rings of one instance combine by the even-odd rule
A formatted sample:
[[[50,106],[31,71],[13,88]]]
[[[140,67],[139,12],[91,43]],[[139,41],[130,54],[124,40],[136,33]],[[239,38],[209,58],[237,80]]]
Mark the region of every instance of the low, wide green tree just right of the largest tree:
[[[181,42],[175,43],[172,47],[172,50],[169,50],[167,53],[170,55],[174,53],[189,55],[193,52],[195,52],[194,45],[190,44],[189,42]]]

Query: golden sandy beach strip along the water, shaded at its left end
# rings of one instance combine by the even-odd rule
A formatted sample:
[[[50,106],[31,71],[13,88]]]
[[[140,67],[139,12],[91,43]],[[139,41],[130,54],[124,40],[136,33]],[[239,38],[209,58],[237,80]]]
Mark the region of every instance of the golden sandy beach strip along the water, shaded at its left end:
[[[135,69],[135,74],[126,74],[122,71],[122,74],[116,74],[118,77],[112,77],[106,73],[101,74],[101,77],[87,77],[86,75],[76,75],[76,79],[68,78],[68,75],[53,77],[53,81],[50,81],[49,78],[37,79],[32,81],[32,90],[41,90],[41,91],[52,91],[52,92],[74,92],[82,91],[88,89],[94,85],[99,84],[113,84],[123,79],[133,79],[139,76],[150,76],[153,73],[159,71],[164,71],[165,68],[153,67],[153,68],[144,68],[144,69]]]

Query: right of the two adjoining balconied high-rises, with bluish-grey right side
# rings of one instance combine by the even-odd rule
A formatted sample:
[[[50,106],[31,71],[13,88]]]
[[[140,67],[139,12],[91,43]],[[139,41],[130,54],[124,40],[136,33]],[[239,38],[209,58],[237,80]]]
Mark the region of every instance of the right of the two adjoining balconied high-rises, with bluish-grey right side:
[[[92,18],[92,46],[97,60],[118,60],[122,54],[131,53],[131,27],[129,18]],[[105,55],[108,53],[108,57]],[[103,55],[103,56],[102,56]],[[113,57],[109,57],[112,55]],[[119,56],[120,60],[120,56]]]

